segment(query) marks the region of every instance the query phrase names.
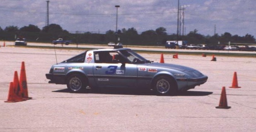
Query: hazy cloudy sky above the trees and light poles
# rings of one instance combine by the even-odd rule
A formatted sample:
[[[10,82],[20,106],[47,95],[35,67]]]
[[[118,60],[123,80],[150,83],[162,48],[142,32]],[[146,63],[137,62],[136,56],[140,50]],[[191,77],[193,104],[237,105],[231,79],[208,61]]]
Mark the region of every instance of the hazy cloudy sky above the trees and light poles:
[[[47,25],[46,0],[0,0],[0,27]],[[177,33],[178,0],[49,0],[49,24],[70,33],[106,33],[135,28],[138,33],[167,29]],[[115,5],[119,5],[118,9]],[[256,35],[256,0],[179,0],[181,34]],[[183,9],[184,8],[184,9]],[[118,10],[118,13],[117,13]],[[184,17],[183,17],[184,16]],[[183,26],[184,25],[184,26]]]

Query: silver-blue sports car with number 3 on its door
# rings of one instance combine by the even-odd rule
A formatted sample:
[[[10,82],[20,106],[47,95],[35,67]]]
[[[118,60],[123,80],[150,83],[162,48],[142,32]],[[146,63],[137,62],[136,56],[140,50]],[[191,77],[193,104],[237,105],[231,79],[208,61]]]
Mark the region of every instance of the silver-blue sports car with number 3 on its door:
[[[64,84],[72,92],[87,86],[155,90],[174,95],[205,83],[208,79],[186,66],[155,63],[128,48],[94,49],[54,64],[46,74],[49,83]]]

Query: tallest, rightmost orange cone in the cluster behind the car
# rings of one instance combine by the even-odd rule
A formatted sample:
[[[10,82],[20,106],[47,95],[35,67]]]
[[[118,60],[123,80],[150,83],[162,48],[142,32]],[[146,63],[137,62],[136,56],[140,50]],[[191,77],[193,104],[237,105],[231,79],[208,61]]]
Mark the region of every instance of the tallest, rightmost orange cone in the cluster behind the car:
[[[20,69],[19,86],[20,86],[19,95],[23,99],[31,99],[31,97],[29,97],[29,94],[28,94],[27,77],[26,77],[26,70],[25,70],[24,61],[22,61],[22,66],[21,66],[21,69]]]

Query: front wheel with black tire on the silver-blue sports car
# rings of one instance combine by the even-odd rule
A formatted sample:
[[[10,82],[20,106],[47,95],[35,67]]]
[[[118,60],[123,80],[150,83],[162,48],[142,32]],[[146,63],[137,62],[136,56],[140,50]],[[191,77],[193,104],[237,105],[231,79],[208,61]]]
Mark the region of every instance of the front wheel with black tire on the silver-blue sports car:
[[[177,85],[174,80],[164,75],[155,78],[152,88],[157,95],[175,95],[177,93]]]

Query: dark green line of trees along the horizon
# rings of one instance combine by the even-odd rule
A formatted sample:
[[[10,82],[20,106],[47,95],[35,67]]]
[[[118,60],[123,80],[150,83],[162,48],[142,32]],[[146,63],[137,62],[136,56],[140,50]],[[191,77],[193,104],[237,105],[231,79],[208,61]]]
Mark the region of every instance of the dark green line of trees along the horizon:
[[[42,29],[35,25],[29,24],[18,28],[17,26],[7,26],[5,29],[0,27],[0,40],[15,40],[17,37],[24,37],[28,42],[51,42],[58,38],[63,40],[72,40],[78,44],[106,44],[115,42],[116,38],[124,45],[157,45],[165,44],[167,40],[186,40],[190,44],[227,44],[232,43],[256,43],[253,35],[246,34],[244,36],[232,35],[224,33],[221,35],[215,34],[201,35],[198,30],[190,31],[187,35],[177,36],[176,34],[167,34],[166,28],[159,27],[155,30],[147,30],[139,34],[135,28],[122,28],[115,31],[109,30],[105,34],[100,33],[69,33],[58,24],[50,24]],[[178,37],[178,38],[177,38]]]

